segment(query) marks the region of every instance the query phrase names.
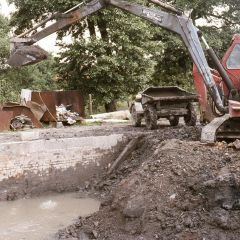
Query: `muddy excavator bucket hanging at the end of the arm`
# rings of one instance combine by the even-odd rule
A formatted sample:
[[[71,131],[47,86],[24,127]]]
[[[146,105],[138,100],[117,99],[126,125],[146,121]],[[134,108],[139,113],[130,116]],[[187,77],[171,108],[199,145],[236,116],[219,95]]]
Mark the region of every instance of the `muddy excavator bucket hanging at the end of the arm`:
[[[48,53],[39,46],[21,46],[12,51],[8,64],[13,67],[21,67],[38,63],[47,57]]]

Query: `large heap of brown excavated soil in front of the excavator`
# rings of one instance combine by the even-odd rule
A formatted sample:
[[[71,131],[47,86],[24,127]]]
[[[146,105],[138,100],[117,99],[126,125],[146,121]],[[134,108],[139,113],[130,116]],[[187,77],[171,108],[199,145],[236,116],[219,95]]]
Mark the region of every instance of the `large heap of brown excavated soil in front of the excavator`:
[[[89,183],[100,211],[57,239],[240,239],[240,154],[224,142],[201,144],[199,134],[147,133],[116,172]]]

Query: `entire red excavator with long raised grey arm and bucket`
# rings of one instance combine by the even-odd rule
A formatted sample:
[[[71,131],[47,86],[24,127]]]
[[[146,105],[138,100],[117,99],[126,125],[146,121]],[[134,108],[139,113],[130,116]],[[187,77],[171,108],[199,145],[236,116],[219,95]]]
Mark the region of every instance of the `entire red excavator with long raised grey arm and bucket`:
[[[47,52],[34,45],[36,42],[101,9],[115,7],[174,32],[182,39],[194,63],[193,75],[199,96],[201,121],[207,123],[202,129],[201,140],[213,143],[219,139],[240,138],[240,36],[234,36],[222,64],[202,32],[188,16],[160,0],[149,1],[160,8],[125,0],[91,0],[80,3],[65,13],[53,14],[27,32],[11,39],[9,65],[19,67],[46,59]],[[37,31],[54,19],[54,23]],[[203,48],[215,69],[209,67]]]

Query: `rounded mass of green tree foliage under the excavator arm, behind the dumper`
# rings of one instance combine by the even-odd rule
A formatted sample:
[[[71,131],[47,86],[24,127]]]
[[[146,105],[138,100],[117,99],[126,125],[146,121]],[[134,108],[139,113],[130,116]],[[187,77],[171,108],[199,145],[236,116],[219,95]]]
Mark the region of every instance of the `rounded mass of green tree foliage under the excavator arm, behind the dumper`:
[[[154,31],[140,19],[116,9],[103,15],[110,41],[94,36],[65,45],[58,70],[65,86],[92,93],[99,103],[110,103],[151,81],[155,65],[151,55],[159,46],[151,41]]]

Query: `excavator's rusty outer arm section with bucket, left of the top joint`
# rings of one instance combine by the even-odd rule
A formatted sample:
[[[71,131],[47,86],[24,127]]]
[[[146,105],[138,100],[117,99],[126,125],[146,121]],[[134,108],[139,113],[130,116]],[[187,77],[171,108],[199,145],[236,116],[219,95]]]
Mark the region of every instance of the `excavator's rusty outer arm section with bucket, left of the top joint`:
[[[90,3],[86,3],[84,6],[79,6],[77,9],[72,11],[67,11],[63,14],[56,14],[56,16],[51,16],[44,20],[42,23],[37,24],[37,26],[28,30],[26,33],[11,39],[11,56],[8,60],[9,65],[14,67],[26,66],[40,62],[48,57],[48,53],[42,48],[33,45],[34,43],[40,41],[41,39],[72,25],[86,16],[89,16],[105,6],[104,2],[101,0],[93,0]],[[46,22],[53,20],[56,17],[57,20],[52,25],[44,28],[43,30],[31,35],[30,37],[25,37],[32,30],[37,27],[42,26]],[[29,47],[31,46],[31,47]]]

